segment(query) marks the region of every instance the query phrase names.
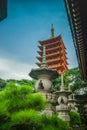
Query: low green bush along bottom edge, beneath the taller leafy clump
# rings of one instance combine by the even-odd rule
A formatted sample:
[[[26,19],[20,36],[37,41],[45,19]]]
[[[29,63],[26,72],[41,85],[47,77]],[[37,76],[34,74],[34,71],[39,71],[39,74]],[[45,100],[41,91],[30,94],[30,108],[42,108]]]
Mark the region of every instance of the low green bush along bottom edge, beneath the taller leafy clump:
[[[16,112],[11,119],[12,130],[71,130],[67,122],[56,115],[40,115],[35,110]]]

